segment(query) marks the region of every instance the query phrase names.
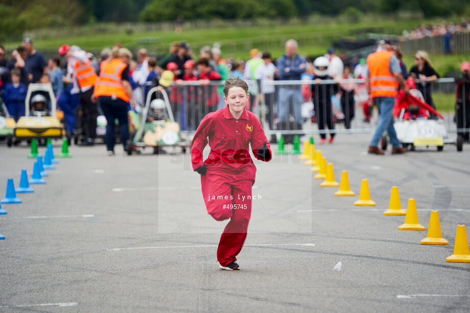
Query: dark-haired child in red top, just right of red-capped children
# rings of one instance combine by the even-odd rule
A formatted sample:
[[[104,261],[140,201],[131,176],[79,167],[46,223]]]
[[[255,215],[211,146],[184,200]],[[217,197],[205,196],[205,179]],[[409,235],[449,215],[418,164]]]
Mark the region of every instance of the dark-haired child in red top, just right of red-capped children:
[[[220,81],[222,76],[216,73],[209,66],[209,60],[206,58],[200,58],[197,61],[197,67],[199,70],[198,79],[202,89],[202,101],[206,106],[203,110],[203,116],[209,112],[214,112],[217,109],[217,103],[219,102],[219,95],[217,93],[216,85],[209,85],[210,81]]]

